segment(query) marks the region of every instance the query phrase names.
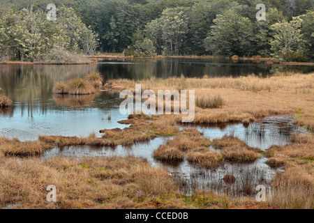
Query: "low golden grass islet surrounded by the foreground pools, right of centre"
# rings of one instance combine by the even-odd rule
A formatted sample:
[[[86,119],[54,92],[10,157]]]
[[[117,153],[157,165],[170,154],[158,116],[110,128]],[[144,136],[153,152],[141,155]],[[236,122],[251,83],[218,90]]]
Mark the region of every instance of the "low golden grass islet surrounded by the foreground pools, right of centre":
[[[211,145],[220,148],[221,152],[210,151],[209,146]],[[194,164],[215,169],[225,160],[234,162],[257,160],[261,152],[234,137],[225,136],[211,142],[209,139],[203,138],[202,133],[196,129],[186,129],[178,132],[166,144],[161,145],[154,152],[154,157],[157,160],[167,161],[183,160],[184,157],[187,157],[188,161]]]

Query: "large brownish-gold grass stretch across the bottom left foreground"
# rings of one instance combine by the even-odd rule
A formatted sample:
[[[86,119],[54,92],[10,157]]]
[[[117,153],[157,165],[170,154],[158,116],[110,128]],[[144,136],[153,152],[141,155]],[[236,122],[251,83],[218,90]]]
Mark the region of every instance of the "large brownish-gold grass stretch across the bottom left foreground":
[[[163,199],[177,192],[167,171],[135,157],[0,158],[0,163],[2,207],[186,208],[175,196]],[[46,201],[48,185],[57,187],[55,203]]]

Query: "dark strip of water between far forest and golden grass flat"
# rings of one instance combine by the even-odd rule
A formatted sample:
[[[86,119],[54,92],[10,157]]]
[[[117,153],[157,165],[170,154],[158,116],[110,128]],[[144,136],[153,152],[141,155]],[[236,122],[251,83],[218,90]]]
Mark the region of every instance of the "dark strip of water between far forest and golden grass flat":
[[[251,74],[271,76],[274,72],[314,72],[314,66],[283,66],[231,60],[209,59],[113,59],[98,62],[99,71],[107,79],[149,79],[151,76],[167,77],[239,77]]]

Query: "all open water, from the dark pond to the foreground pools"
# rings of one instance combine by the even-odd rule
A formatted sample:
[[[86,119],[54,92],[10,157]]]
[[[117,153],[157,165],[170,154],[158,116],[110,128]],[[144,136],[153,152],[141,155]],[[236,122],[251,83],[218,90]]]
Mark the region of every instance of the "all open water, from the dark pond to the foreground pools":
[[[144,61],[114,60],[103,61],[97,65],[80,66],[3,66],[0,65],[0,88],[14,103],[10,109],[0,111],[0,135],[17,137],[22,141],[37,139],[39,134],[63,136],[87,136],[92,132],[111,128],[126,128],[117,121],[126,119],[119,112],[118,93],[98,92],[96,95],[61,97],[52,93],[56,82],[73,77],[84,77],[89,72],[101,72],[105,79],[130,78],[143,79],[156,77],[180,76],[202,77],[203,75],[238,76],[252,72],[269,75],[276,69],[297,69],[299,72],[314,71],[306,66],[269,66],[256,63],[230,63],[203,61],[195,59],[147,59]],[[281,70],[281,71],[283,71]],[[111,121],[108,120],[111,116]],[[195,128],[195,127],[185,127]],[[273,144],[287,144],[290,134],[303,132],[292,125],[287,117],[269,118],[245,128],[243,125],[197,127],[204,137],[216,139],[225,134],[232,134],[246,141],[250,146],[267,149]],[[258,132],[264,132],[258,134]],[[257,132],[257,133],[256,133]],[[100,137],[100,134],[98,134]],[[262,158],[251,164],[225,163],[216,170],[194,167],[188,161],[179,163],[162,163],[154,160],[152,153],[165,143],[167,138],[157,138],[146,144],[117,148],[90,148],[88,146],[71,146],[54,148],[47,151],[43,158],[58,155],[69,157],[82,156],[126,156],[146,158],[154,167],[167,168],[175,178],[181,180],[182,190],[190,193],[194,187],[225,188],[221,179],[227,173],[237,177],[233,191],[241,190],[244,178],[250,178],[252,185],[269,184],[276,174]],[[239,189],[240,188],[240,189]]]

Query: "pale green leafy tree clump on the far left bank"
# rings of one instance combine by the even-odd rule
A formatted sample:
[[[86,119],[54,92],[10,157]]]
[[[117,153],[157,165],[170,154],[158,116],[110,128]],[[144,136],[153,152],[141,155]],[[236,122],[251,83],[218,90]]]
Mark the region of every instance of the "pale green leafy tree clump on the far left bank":
[[[58,9],[57,21],[46,20],[42,10],[33,6],[14,13],[1,13],[0,51],[9,50],[13,59],[49,62],[73,62],[70,52],[94,54],[97,35],[85,26],[71,8]],[[58,52],[60,54],[58,55]]]

